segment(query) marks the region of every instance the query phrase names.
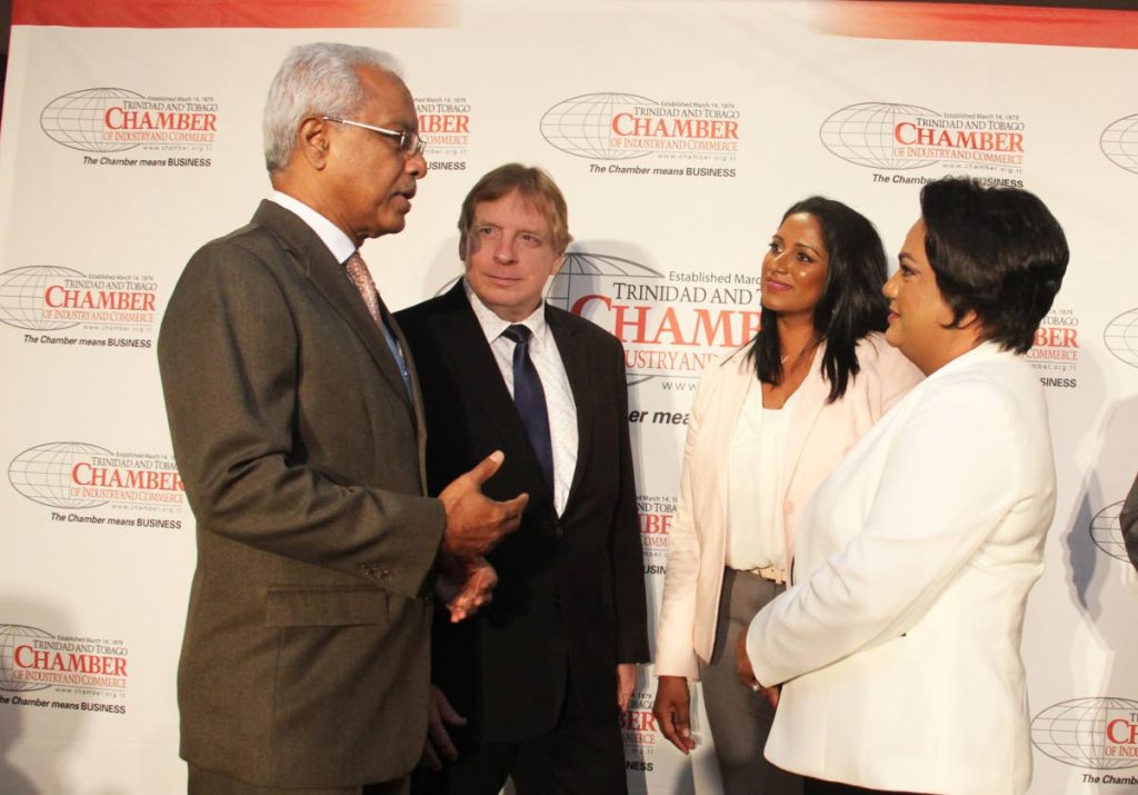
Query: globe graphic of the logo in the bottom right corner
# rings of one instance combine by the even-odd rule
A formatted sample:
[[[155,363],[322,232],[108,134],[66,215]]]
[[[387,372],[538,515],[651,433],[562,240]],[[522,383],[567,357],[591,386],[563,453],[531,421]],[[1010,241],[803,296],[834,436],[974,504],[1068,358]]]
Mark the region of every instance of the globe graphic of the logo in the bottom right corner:
[[[1133,768],[1138,765],[1138,756],[1113,756],[1106,749],[1121,745],[1110,740],[1111,721],[1121,719],[1129,723],[1135,712],[1138,702],[1127,698],[1075,698],[1053,704],[1031,721],[1031,743],[1052,759],[1075,768]],[[1129,737],[1129,731],[1125,733]]]

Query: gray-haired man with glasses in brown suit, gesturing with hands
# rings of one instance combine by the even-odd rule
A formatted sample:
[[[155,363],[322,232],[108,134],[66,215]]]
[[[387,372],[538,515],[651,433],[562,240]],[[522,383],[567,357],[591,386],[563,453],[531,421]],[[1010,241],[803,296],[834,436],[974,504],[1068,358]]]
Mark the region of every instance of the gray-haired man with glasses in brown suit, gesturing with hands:
[[[417,130],[386,56],[295,48],[265,109],[273,197],[193,255],[163,320],[197,518],[178,682],[190,793],[405,792],[436,555],[475,558],[525,505],[479,492],[501,456],[427,497],[414,368],[357,253],[403,229],[427,171]]]

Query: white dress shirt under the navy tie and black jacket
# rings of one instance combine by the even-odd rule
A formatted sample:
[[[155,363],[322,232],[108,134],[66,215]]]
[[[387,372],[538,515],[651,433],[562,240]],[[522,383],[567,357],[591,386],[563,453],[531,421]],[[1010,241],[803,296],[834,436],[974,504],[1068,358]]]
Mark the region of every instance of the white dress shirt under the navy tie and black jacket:
[[[503,320],[494,313],[481,298],[475,295],[465,279],[462,287],[467,300],[475,311],[478,325],[483,327],[486,342],[489,343],[494,360],[497,362],[505,388],[513,398],[513,349],[516,343],[502,333],[511,326],[525,326],[530,330],[529,358],[542,379],[542,391],[545,393],[545,410],[550,416],[550,442],[553,446],[553,507],[560,516],[569,501],[569,486],[572,485],[574,472],[577,469],[577,403],[572,398],[566,366],[561,361],[558,343],[553,338],[549,323],[545,322],[545,303],[534,313],[518,323]]]

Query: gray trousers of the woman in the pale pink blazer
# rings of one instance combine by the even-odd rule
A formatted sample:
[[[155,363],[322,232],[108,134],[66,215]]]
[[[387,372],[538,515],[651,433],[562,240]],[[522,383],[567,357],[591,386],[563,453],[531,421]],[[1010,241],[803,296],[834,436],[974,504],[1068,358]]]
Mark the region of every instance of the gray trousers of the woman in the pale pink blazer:
[[[802,779],[762,756],[775,712],[765,696],[739,681],[735,642],[751,618],[786,590],[750,572],[724,569],[711,661],[700,661],[703,705],[724,795],[801,795]]]

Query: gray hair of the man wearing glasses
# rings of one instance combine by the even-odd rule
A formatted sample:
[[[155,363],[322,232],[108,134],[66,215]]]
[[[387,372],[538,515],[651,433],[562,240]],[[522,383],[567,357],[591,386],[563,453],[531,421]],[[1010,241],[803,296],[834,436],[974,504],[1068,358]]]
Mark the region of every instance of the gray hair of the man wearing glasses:
[[[358,109],[364,100],[355,72],[360,66],[399,76],[395,59],[370,47],[319,41],[289,50],[265,100],[262,134],[269,171],[288,165],[296,146],[296,131],[305,117],[346,118]]]

